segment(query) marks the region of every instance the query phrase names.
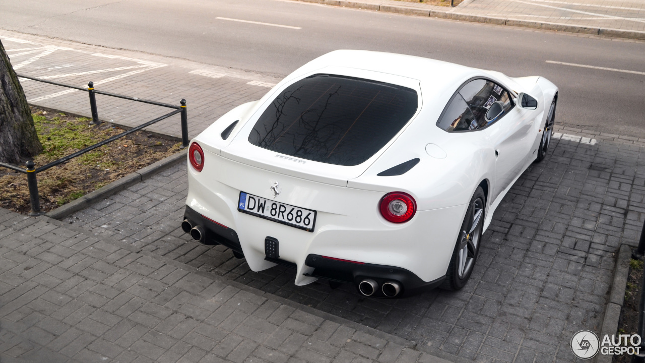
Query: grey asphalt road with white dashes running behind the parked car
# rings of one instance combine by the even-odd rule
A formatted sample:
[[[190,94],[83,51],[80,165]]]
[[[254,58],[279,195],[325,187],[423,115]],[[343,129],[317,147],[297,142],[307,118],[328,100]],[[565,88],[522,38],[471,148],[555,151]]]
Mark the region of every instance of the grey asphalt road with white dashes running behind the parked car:
[[[99,0],[91,7],[81,0],[0,0],[0,8],[0,28],[6,30],[273,76],[343,48],[431,57],[509,76],[544,76],[560,87],[557,122],[645,138],[645,42],[289,0]]]

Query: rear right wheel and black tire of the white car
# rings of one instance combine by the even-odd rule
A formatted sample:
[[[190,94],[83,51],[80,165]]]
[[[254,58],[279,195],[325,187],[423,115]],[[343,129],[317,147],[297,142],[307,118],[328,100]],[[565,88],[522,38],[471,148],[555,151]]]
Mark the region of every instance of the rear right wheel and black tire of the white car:
[[[476,211],[481,209],[479,218],[475,221]],[[477,254],[479,254],[479,246],[481,245],[481,236],[484,229],[484,219],[486,217],[486,196],[482,187],[477,187],[475,194],[470,199],[464,222],[461,223],[461,230],[455,243],[455,249],[450,258],[450,265],[446,272],[446,279],[440,286],[441,289],[457,291],[466,285],[470,278],[475,262],[477,262]],[[477,223],[475,225],[475,223]],[[474,226],[473,226],[474,225]],[[464,238],[466,242],[464,242]],[[470,243],[469,243],[470,242]],[[464,245],[465,243],[465,245]],[[466,255],[462,255],[463,249],[466,247]],[[465,262],[464,262],[465,261]],[[460,268],[464,262],[463,269]]]

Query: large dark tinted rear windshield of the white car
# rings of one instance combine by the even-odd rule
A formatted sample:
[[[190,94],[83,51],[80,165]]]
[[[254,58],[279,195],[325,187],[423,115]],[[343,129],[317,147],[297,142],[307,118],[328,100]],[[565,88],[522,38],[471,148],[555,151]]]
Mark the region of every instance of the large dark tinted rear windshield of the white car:
[[[392,140],[417,105],[411,88],[315,74],[277,96],[248,141],[297,158],[359,165]]]

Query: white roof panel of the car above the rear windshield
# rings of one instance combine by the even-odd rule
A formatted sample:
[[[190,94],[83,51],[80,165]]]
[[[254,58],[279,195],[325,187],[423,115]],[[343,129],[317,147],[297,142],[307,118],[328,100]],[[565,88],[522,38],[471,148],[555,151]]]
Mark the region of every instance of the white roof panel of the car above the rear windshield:
[[[477,68],[455,63],[370,50],[334,50],[313,59],[301,70],[310,72],[330,66],[357,68],[418,79],[421,81],[422,88],[432,87],[435,91],[439,89],[454,91],[464,79],[484,75],[484,72]]]

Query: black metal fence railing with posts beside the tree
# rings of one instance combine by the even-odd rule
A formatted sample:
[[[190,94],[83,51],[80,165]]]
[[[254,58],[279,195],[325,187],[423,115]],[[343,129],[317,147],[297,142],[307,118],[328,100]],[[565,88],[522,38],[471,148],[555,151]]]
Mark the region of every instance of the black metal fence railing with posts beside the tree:
[[[179,101],[180,105],[170,105],[169,103],[162,103],[162,102],[157,102],[157,101],[150,101],[149,99],[142,99],[142,98],[136,98],[136,97],[130,97],[130,96],[123,96],[122,94],[115,94],[115,93],[110,93],[110,92],[103,92],[99,90],[94,89],[94,83],[90,82],[88,83],[88,88],[83,88],[83,87],[76,87],[73,85],[66,85],[64,83],[57,83],[57,82],[52,82],[52,81],[47,81],[45,79],[39,79],[35,77],[30,77],[30,76],[25,76],[23,74],[17,74],[18,77],[20,78],[26,78],[26,79],[32,79],[34,81],[39,81],[43,83],[50,83],[51,85],[57,85],[61,87],[67,87],[67,88],[74,88],[76,90],[82,90],[85,92],[88,92],[90,96],[90,110],[92,111],[92,123],[94,125],[100,125],[101,120],[99,119],[99,112],[96,107],[96,95],[97,94],[103,94],[105,96],[110,96],[110,97],[116,97],[116,98],[123,98],[123,99],[129,99],[130,101],[136,101],[136,102],[143,102],[143,103],[149,103],[150,105],[155,105],[155,106],[161,106],[161,107],[167,107],[169,109],[174,109],[172,112],[168,112],[167,114],[164,114],[163,116],[159,116],[158,118],[152,119],[146,123],[143,123],[137,127],[133,127],[130,130],[127,130],[125,132],[121,132],[121,134],[112,136],[111,138],[108,138],[106,140],[100,141],[99,143],[95,143],[92,146],[88,146],[83,150],[78,150],[77,152],[74,152],[72,154],[69,154],[68,156],[64,156],[63,158],[60,158],[59,160],[52,161],[51,163],[48,163],[46,165],[43,165],[41,167],[36,168],[34,161],[27,161],[25,163],[26,169],[23,169],[21,167],[17,167],[15,165],[11,165],[8,163],[2,163],[0,162],[0,167],[5,167],[7,169],[11,169],[12,171],[17,171],[21,172],[23,174],[27,174],[27,185],[29,187],[29,198],[30,198],[30,203],[31,203],[31,208],[32,211],[30,213],[31,216],[37,216],[39,214],[43,214],[41,212],[41,206],[40,206],[40,199],[38,195],[38,181],[36,178],[36,175],[39,172],[46,171],[47,169],[50,169],[51,167],[55,167],[56,165],[59,165],[61,163],[64,163],[68,160],[71,160],[77,156],[83,155],[86,152],[92,151],[94,149],[97,149],[98,147],[101,147],[105,145],[106,143],[110,143],[114,140],[117,140],[119,138],[123,138],[123,136],[126,136],[128,134],[132,134],[132,132],[144,129],[145,127],[148,127],[154,123],[157,123],[161,121],[162,119],[169,118],[170,116],[174,116],[176,114],[181,114],[181,147],[188,147],[188,113],[186,110],[186,100],[181,99]]]

